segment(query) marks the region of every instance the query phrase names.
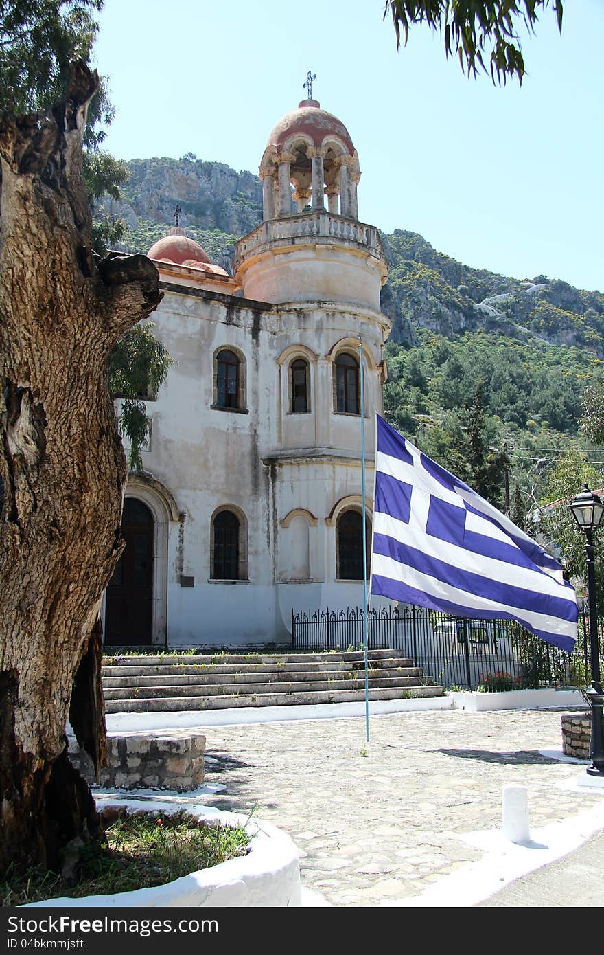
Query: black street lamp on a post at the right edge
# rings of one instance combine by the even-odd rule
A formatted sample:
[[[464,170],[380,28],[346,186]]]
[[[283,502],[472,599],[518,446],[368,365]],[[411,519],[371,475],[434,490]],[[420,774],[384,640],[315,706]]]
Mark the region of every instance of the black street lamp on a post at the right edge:
[[[582,531],[585,531],[585,552],[587,554],[587,599],[590,610],[590,657],[592,662],[592,686],[585,692],[592,709],[592,741],[590,743],[589,775],[604,779],[604,693],[600,681],[600,651],[597,638],[597,619],[595,616],[595,570],[594,570],[594,531],[597,530],[604,503],[590,491],[587,484],[582,494],[577,494],[570,504],[573,518]]]

